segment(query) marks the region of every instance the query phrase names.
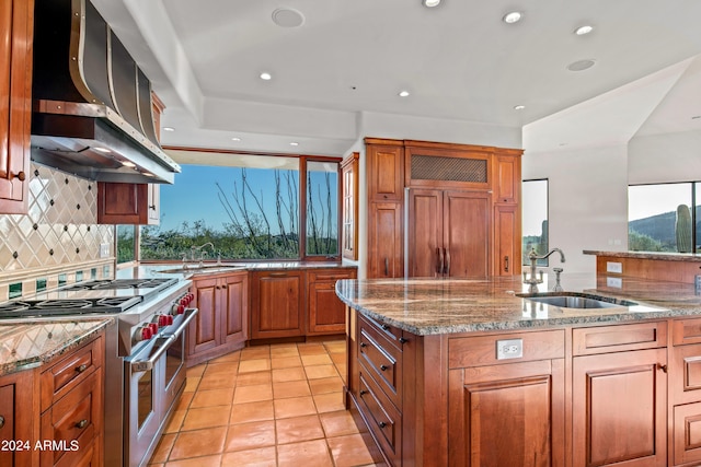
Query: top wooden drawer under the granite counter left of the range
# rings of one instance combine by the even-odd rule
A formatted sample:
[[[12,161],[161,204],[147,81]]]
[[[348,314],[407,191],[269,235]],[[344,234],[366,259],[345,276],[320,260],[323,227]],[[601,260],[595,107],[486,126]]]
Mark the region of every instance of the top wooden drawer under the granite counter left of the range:
[[[42,373],[42,411],[85,380],[104,360],[102,337],[71,352]]]

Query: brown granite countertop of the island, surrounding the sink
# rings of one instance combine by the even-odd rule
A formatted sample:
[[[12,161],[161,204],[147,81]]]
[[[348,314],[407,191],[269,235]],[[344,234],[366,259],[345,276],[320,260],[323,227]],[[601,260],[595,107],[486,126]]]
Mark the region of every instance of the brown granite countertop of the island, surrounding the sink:
[[[520,277],[342,280],[336,294],[364,315],[420,336],[701,316],[701,296],[693,284],[563,275],[562,287],[570,293],[637,304],[578,310],[536,303],[517,295],[528,290]],[[539,292],[552,288],[552,278],[545,276]]]

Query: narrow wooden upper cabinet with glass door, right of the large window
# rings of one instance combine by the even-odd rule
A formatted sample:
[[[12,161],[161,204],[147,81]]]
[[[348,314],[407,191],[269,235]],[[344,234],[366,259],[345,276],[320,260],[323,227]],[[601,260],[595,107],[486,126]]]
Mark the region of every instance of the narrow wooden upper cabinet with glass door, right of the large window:
[[[358,259],[358,157],[352,153],[341,163],[341,180],[343,185],[341,234],[343,257]]]

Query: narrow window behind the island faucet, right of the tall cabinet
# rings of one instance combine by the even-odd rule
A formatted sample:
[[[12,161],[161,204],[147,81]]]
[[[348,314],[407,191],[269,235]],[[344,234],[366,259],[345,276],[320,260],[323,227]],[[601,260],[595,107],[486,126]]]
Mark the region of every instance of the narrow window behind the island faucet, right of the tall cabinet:
[[[524,180],[521,184],[522,265],[530,265],[528,254],[536,248],[538,256],[548,253],[548,179]],[[539,259],[548,266],[548,258]]]

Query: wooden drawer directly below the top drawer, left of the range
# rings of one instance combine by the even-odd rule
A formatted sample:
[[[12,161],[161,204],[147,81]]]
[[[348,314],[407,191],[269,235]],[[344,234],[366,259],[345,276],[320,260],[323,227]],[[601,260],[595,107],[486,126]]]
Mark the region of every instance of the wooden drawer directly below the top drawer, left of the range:
[[[43,465],[56,464],[64,455],[88,446],[99,436],[102,399],[102,369],[97,367],[42,415],[42,440],[62,442],[66,447],[66,451],[42,452]]]

